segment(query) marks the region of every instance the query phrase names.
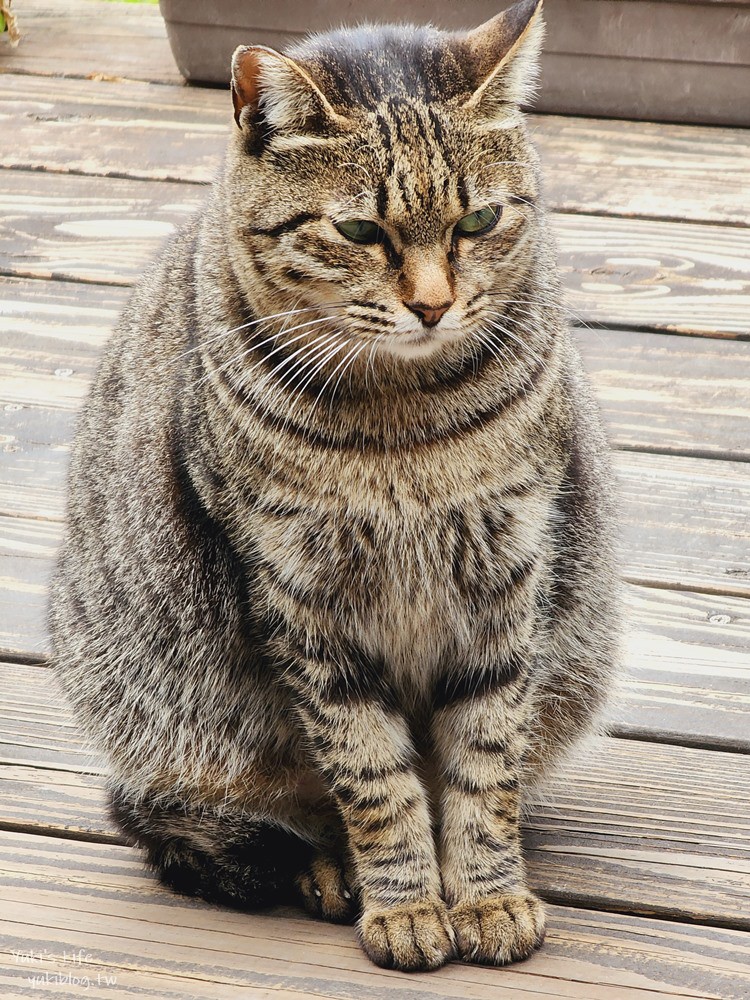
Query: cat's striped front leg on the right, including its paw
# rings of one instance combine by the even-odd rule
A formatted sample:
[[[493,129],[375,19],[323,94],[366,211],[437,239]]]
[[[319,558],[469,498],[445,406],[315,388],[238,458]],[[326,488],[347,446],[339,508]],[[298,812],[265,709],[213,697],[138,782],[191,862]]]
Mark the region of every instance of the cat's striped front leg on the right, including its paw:
[[[451,670],[436,691],[441,870],[457,950],[470,962],[518,961],[544,937],[519,831],[528,662],[497,655]]]

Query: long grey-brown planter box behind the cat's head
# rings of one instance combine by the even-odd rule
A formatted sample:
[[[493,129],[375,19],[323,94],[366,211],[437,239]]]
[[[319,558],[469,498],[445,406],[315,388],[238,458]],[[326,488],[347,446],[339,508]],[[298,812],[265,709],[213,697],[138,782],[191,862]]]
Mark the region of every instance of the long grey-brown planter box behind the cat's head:
[[[186,80],[226,84],[237,45],[358,21],[469,28],[503,0],[160,0]],[[547,0],[536,110],[750,125],[750,0]]]

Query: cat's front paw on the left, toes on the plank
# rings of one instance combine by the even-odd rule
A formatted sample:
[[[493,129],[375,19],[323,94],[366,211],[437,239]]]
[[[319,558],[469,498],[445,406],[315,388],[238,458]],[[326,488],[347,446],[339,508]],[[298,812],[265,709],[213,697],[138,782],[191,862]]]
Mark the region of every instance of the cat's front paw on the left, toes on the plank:
[[[384,969],[428,972],[455,953],[445,903],[423,902],[366,910],[360,923],[366,954]]]

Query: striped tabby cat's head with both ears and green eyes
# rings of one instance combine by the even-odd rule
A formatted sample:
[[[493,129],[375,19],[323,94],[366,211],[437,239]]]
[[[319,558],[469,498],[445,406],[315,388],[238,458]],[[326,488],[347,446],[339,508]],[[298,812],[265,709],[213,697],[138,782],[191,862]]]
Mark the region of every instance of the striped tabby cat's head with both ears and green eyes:
[[[519,110],[540,8],[521,0],[463,33],[366,25],[287,55],[237,49],[224,191],[256,311],[321,304],[347,337],[402,358],[491,328],[541,225]]]

